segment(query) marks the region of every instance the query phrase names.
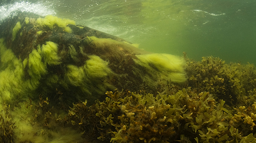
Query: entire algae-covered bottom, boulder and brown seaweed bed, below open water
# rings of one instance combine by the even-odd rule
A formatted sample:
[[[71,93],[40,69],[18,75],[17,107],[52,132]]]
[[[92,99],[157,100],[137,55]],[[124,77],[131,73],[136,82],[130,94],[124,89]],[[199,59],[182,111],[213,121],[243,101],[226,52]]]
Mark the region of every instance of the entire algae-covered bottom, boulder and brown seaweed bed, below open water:
[[[256,142],[254,65],[149,53],[52,15],[0,32],[2,143]]]

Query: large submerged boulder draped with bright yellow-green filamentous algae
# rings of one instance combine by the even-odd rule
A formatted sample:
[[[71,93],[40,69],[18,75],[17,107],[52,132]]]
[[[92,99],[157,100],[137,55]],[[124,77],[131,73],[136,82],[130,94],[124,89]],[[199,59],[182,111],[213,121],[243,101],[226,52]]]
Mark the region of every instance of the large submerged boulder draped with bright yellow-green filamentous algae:
[[[167,81],[186,81],[185,61],[143,51],[124,39],[73,20],[19,13],[1,23],[0,93],[4,99],[39,94],[77,102],[106,90],[157,93]],[[60,97],[58,97],[60,98]]]

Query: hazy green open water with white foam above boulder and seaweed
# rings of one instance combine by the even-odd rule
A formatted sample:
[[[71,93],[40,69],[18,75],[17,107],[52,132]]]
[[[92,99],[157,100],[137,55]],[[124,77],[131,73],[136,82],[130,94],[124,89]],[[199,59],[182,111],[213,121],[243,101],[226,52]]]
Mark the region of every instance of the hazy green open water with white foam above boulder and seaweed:
[[[15,11],[69,18],[154,53],[256,63],[254,0],[3,0],[0,22]]]

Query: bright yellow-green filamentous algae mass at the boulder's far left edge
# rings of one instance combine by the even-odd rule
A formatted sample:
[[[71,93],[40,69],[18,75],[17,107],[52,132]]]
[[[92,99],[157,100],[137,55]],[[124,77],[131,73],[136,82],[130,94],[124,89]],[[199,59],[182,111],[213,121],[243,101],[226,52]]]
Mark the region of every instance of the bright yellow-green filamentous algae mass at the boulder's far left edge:
[[[25,58],[21,61],[11,49],[7,49],[4,39],[0,39],[0,93],[3,100],[10,100],[17,98],[17,96],[23,98],[23,96],[35,90],[42,76],[47,73],[47,64],[59,63],[59,57],[54,51],[56,48],[57,45],[55,43],[46,42],[42,49],[38,45],[38,48],[33,49],[29,54],[28,59]],[[24,78],[26,66],[28,67],[27,73],[31,77],[29,79]]]

